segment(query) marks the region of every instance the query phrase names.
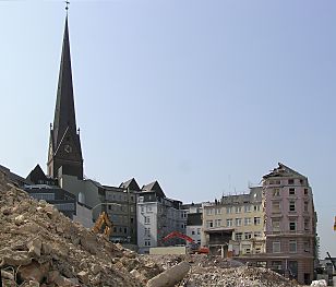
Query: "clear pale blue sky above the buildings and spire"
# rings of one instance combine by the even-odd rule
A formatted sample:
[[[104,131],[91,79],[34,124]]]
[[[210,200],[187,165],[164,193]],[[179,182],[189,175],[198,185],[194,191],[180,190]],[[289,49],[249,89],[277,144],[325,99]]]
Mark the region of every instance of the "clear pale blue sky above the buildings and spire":
[[[249,191],[283,163],[309,178],[336,256],[336,2],[71,1],[84,172],[168,198]],[[63,1],[0,0],[0,164],[46,170]]]

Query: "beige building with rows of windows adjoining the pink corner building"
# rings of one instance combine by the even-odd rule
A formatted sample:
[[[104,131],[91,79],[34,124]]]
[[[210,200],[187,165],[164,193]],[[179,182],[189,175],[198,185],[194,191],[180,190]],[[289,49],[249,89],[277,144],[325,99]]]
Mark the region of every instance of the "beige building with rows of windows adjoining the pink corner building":
[[[202,246],[225,256],[249,256],[265,252],[263,190],[223,196],[203,203]]]

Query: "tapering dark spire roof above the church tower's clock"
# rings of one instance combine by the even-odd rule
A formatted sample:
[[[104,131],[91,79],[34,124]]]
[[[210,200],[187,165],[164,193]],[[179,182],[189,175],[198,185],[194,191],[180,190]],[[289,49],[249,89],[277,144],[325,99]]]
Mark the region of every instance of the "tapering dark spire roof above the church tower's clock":
[[[67,14],[53,118],[55,146],[58,146],[68,127],[71,131],[76,131]]]

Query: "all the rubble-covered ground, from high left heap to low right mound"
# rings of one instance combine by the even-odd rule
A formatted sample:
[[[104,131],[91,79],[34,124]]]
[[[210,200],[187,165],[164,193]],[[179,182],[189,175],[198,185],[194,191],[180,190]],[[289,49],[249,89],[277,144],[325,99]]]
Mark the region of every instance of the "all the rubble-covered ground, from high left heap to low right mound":
[[[296,287],[265,268],[206,255],[139,255],[73,223],[10,184],[0,171],[0,270],[4,286],[145,286],[182,261],[177,286]]]

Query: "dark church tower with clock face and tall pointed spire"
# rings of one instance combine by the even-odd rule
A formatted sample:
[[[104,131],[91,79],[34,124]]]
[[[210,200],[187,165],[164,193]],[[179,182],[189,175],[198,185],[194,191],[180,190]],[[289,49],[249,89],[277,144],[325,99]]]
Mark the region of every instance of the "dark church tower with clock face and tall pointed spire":
[[[72,72],[65,17],[61,65],[59,72],[53,125],[50,124],[48,153],[48,176],[59,178],[59,168],[63,175],[83,179],[83,157],[80,131],[76,129],[72,87]]]

